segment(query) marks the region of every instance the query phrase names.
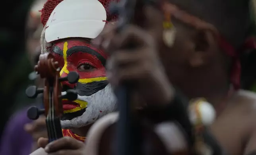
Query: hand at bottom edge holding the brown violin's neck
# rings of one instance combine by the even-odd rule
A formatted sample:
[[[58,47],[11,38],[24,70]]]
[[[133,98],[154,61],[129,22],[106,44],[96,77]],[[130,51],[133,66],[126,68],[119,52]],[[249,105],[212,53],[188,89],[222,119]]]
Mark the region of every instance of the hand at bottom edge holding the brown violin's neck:
[[[63,137],[48,144],[48,138],[39,138],[39,147],[50,155],[84,155],[85,144],[71,137]]]

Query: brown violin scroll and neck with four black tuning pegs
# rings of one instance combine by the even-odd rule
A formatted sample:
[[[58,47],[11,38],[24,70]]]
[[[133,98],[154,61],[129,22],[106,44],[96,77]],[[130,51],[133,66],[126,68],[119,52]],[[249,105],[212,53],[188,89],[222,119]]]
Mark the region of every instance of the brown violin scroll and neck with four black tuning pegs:
[[[77,83],[79,74],[70,72],[67,77],[60,77],[60,68],[58,62],[50,53],[40,55],[39,62],[35,66],[35,71],[44,79],[43,88],[30,86],[26,90],[29,98],[36,98],[38,94],[43,93],[43,102],[45,109],[38,109],[33,106],[27,111],[29,119],[38,119],[40,115],[45,114],[46,125],[49,142],[61,138],[62,128],[60,118],[63,114],[62,99],[76,100],[78,97],[75,90],[67,90],[65,95],[61,95],[62,88],[60,82],[68,81],[69,83]]]

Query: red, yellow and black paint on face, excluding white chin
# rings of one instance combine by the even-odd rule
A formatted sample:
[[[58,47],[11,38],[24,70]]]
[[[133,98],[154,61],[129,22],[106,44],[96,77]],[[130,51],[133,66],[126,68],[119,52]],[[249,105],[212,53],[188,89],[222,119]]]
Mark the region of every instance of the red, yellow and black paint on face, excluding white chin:
[[[62,82],[64,87],[68,86],[77,90],[80,96],[90,96],[107,86],[105,70],[107,55],[92,47],[89,41],[81,39],[60,40],[54,43],[51,52],[62,68],[60,77],[66,77],[72,71],[78,72],[80,75],[78,83],[70,84],[68,81],[64,81]],[[63,101],[66,113],[79,113],[80,110],[85,110],[85,103],[74,102],[77,104]]]

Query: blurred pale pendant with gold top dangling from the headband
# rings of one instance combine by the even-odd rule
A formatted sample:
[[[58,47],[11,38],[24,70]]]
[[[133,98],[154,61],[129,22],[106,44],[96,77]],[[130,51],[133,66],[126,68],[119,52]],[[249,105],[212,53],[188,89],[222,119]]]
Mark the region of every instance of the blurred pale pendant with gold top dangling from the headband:
[[[170,13],[165,13],[165,21],[163,21],[163,42],[168,47],[172,47],[175,41],[176,29],[171,22]]]

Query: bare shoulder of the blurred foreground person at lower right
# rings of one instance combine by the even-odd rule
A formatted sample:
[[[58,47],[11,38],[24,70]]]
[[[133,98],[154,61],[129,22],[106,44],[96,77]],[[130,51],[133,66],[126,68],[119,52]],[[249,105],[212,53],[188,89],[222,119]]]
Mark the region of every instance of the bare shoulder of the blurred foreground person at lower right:
[[[231,155],[256,151],[256,95],[239,91],[211,125],[220,145]]]

